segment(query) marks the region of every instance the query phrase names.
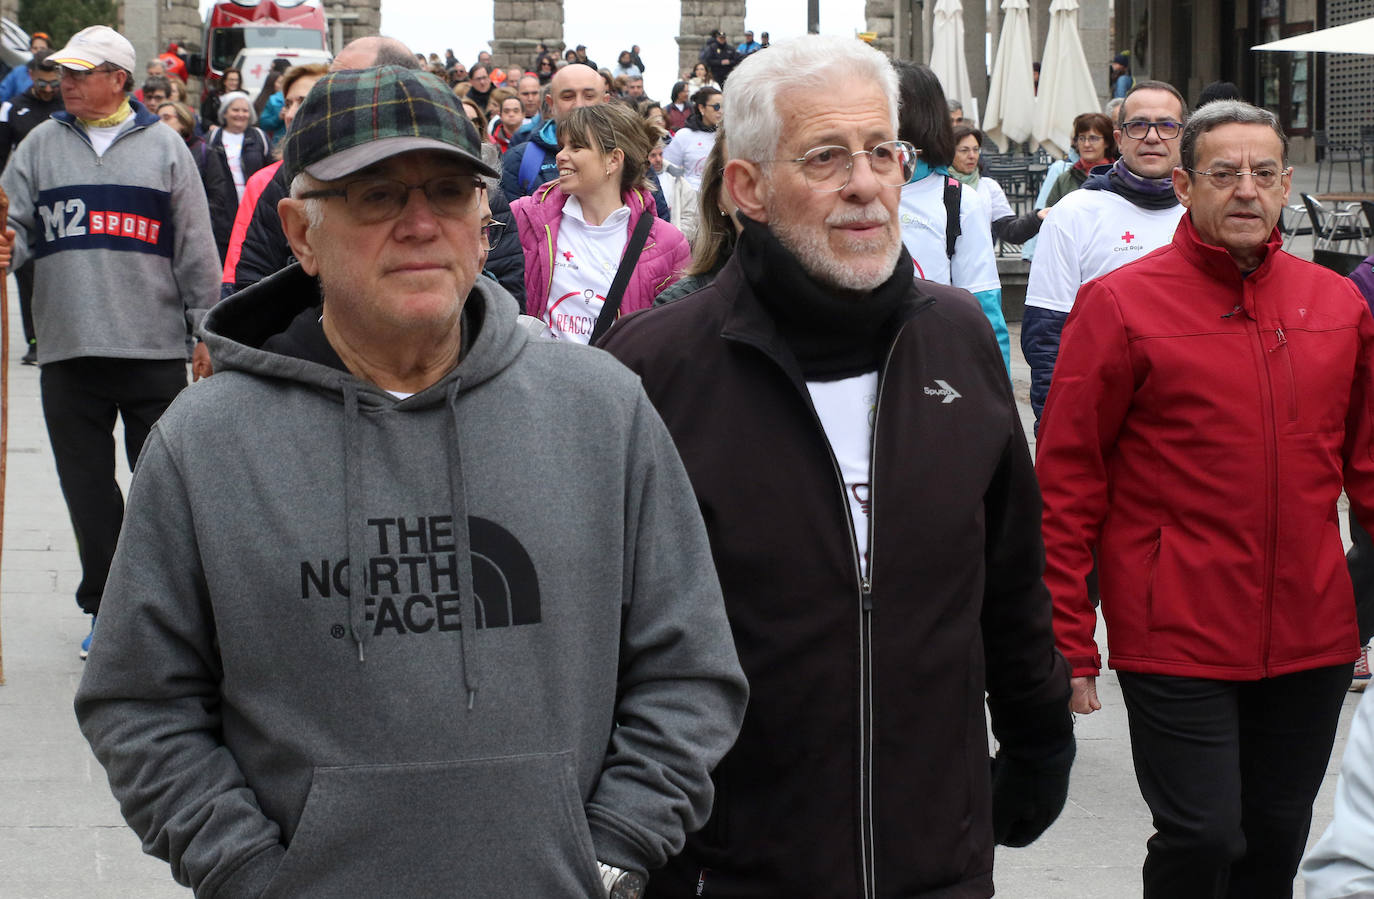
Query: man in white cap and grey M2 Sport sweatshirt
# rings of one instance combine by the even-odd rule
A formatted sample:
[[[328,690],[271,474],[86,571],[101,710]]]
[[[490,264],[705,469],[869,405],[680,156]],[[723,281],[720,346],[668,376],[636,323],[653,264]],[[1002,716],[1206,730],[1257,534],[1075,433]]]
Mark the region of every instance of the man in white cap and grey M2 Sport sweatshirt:
[[[93,25],[48,62],[66,110],[33,129],[0,179],[0,265],[33,261],[43,417],[81,554],[77,603],[93,621],[124,515],[114,419],[133,467],[185,386],[187,334],[218,297],[218,253],[185,142],[128,96],[133,45]]]

